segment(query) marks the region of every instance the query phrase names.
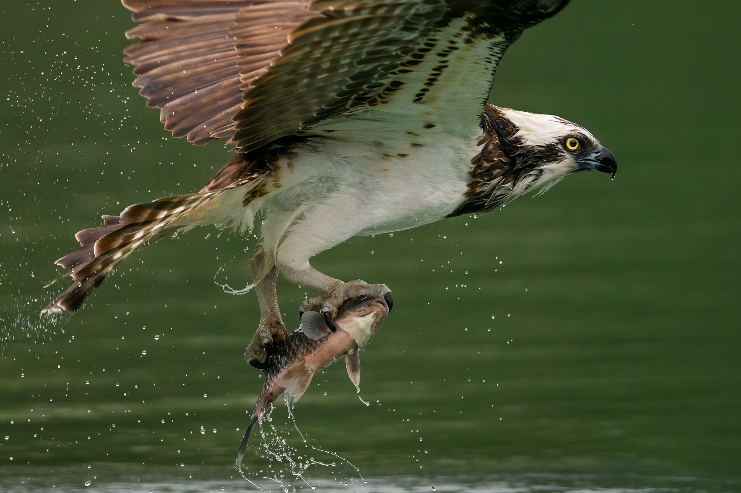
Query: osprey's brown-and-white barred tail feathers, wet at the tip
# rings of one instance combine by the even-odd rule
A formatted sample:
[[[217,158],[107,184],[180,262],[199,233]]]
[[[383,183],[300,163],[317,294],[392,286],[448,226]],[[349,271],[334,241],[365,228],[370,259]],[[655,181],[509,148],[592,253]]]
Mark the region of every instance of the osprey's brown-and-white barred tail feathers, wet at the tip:
[[[183,227],[204,224],[207,212],[196,209],[218,194],[177,195],[132,205],[120,216],[104,215],[103,226],[78,232],[75,238],[81,248],[56,261],[57,265],[69,269],[62,277],[71,277],[72,284],[41,312],[75,312],[105,276],[139,246]]]

